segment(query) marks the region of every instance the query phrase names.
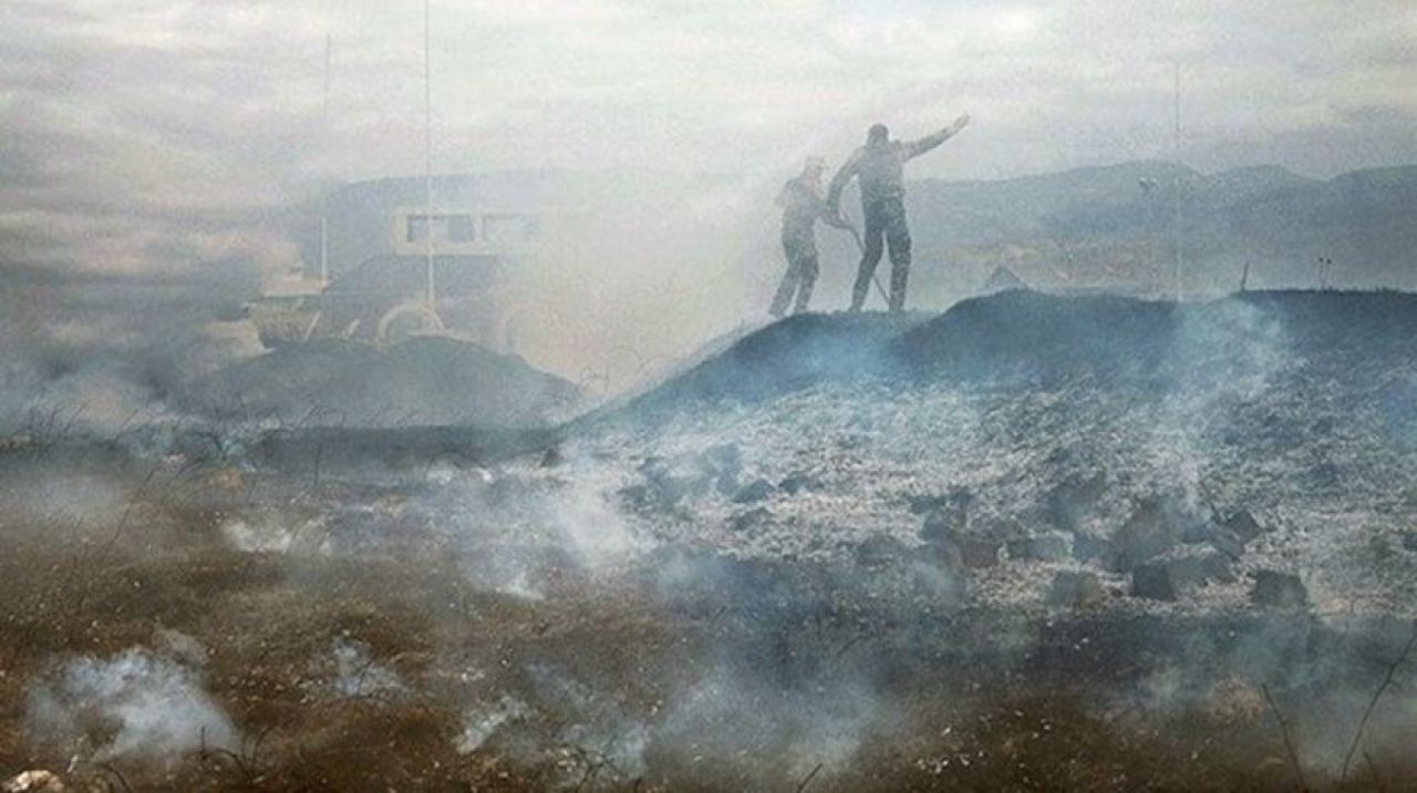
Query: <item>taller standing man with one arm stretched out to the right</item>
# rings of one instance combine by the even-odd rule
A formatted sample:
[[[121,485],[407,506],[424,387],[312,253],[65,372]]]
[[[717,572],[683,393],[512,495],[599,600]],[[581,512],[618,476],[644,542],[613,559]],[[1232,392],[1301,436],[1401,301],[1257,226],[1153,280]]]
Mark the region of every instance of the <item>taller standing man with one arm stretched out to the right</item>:
[[[939,132],[914,142],[891,140],[886,125],[871,126],[866,145],[847,159],[832,177],[832,189],[826,196],[828,213],[840,218],[842,190],[854,176],[862,186],[862,211],[864,214],[864,245],[862,265],[852,288],[852,311],[860,311],[866,304],[866,292],[871,288],[876,265],[881,261],[881,248],[890,247],[890,309],[905,308],[905,284],[910,279],[910,227],[905,223],[905,162],[924,155],[954,138],[969,123],[962,115]]]

